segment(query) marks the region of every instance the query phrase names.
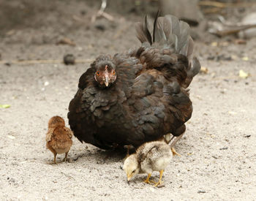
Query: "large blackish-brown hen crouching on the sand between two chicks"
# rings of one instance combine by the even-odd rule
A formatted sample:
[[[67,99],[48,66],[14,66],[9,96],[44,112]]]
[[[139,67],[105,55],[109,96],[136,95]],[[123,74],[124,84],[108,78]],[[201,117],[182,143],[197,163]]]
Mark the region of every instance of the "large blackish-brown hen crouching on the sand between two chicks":
[[[199,72],[187,23],[172,15],[136,25],[142,46],[99,56],[80,77],[69,125],[81,142],[109,149],[179,136],[192,115],[186,89]]]

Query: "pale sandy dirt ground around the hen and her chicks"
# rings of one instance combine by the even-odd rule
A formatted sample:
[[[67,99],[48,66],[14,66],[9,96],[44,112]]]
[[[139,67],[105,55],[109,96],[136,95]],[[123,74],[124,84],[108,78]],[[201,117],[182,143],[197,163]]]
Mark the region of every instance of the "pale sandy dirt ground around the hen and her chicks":
[[[59,164],[49,164],[48,120],[61,115],[67,124],[69,101],[89,64],[12,61],[58,60],[66,53],[88,59],[136,47],[132,24],[142,17],[132,9],[125,15],[109,9],[114,22],[90,24],[99,7],[91,1],[28,2],[1,1],[1,15],[12,18],[0,16],[0,105],[10,105],[0,108],[0,200],[255,200],[256,39],[246,45],[233,38],[196,42],[195,54],[208,73],[190,86],[194,112],[176,145],[182,156],[173,157],[162,188],[143,183],[146,175],[128,184],[121,170],[124,153],[75,137],[70,162],[59,156]],[[76,46],[56,45],[63,37]],[[239,77],[241,69],[251,76]]]

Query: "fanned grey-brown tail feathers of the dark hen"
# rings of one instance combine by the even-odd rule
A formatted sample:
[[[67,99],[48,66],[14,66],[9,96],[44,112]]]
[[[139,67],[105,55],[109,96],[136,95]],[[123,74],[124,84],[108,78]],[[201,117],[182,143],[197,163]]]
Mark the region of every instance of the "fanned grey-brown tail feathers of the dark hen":
[[[192,77],[200,71],[200,62],[192,56],[194,42],[189,34],[189,25],[173,15],[159,17],[159,12],[157,12],[152,34],[148,31],[147,18],[145,18],[144,23],[136,25],[136,31],[138,39],[146,48],[150,44],[155,48],[170,49],[173,53],[187,56],[189,68],[187,69],[185,86],[189,86]]]

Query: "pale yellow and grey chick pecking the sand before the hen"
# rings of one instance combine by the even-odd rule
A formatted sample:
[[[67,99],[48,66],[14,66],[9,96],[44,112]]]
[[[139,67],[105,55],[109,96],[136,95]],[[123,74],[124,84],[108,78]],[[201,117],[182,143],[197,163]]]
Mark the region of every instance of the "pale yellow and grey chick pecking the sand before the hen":
[[[170,146],[165,142],[153,141],[150,143],[144,143],[140,145],[136,153],[130,155],[125,159],[123,170],[127,174],[127,180],[137,175],[138,173],[147,173],[148,177],[144,182],[155,183],[150,181],[152,172],[159,171],[159,181],[155,183],[158,186],[162,183],[162,174],[170,164],[173,157],[173,153],[170,150]]]

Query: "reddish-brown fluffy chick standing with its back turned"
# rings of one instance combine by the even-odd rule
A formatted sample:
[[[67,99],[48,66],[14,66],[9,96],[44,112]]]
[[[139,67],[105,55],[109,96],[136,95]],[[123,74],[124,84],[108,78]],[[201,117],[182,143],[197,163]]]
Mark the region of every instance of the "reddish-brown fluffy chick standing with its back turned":
[[[72,146],[72,131],[65,126],[65,121],[60,116],[53,116],[48,122],[46,134],[46,147],[53,152],[53,162],[56,164],[57,153],[65,153],[64,161],[67,161],[67,153]]]

